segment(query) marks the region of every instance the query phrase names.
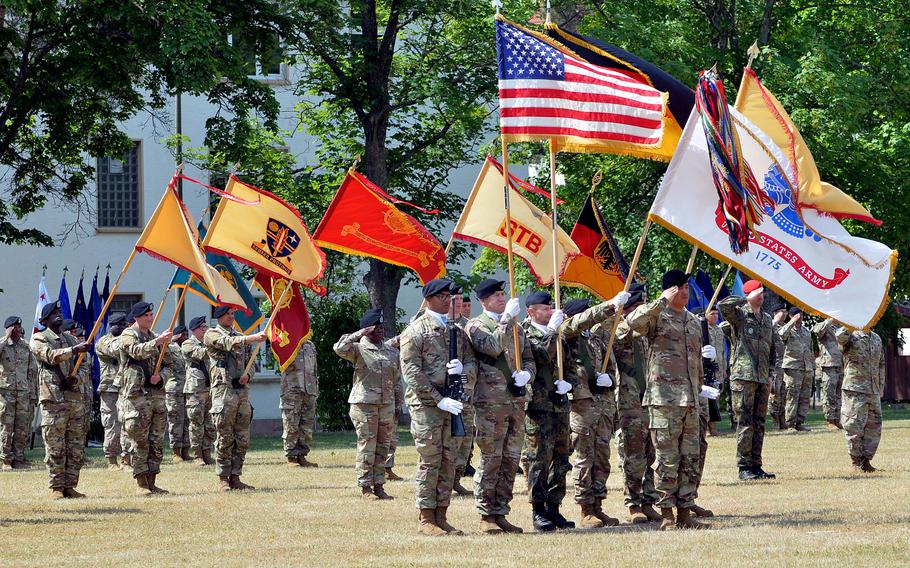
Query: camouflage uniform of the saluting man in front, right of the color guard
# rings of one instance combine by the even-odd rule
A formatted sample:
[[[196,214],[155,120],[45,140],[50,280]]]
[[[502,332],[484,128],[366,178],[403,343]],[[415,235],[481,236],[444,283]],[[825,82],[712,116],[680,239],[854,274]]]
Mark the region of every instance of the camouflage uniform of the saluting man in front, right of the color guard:
[[[657,458],[657,505],[691,508],[698,479],[698,394],[701,392],[701,325],[660,298],[639,306],[629,327],[648,339],[648,377],[642,406],[648,407]]]

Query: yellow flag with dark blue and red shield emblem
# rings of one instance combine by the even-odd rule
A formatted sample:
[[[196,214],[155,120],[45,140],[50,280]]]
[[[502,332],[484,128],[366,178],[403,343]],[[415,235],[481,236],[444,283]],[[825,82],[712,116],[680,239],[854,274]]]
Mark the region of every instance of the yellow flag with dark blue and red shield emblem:
[[[231,176],[203,246],[275,278],[308,284],[322,276],[325,254],[293,205]]]

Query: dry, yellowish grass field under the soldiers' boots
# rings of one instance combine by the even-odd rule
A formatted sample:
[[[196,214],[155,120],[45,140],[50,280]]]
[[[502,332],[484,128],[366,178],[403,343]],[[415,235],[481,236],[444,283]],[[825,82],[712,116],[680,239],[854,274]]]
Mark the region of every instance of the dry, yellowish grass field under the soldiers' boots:
[[[354,483],[354,436],[317,435],[319,469],[283,465],[280,440],[255,440],[244,480],[253,493],[223,494],[212,467],[164,466],[168,497],[133,497],[130,475],[94,464],[79,489],[88,499],[51,502],[43,468],[0,474],[0,566],[908,566],[910,408],[885,411],[874,460],[851,471],[844,437],[822,428],[771,432],[765,468],[777,480],[736,481],[734,439],[710,439],[699,502],[718,516],[710,531],[662,533],[623,524],[596,531],[430,538],[415,533],[416,452],[402,433],[394,501],[362,502]],[[40,459],[36,452],[31,459]],[[613,454],[615,458],[615,452]],[[621,476],[610,476],[605,510],[623,515]],[[571,480],[571,478],[570,478]],[[470,486],[470,480],[465,480]],[[567,502],[564,512],[578,518]],[[510,519],[531,527],[524,480]],[[458,498],[452,524],[475,531],[473,500]],[[625,521],[625,517],[623,517]]]

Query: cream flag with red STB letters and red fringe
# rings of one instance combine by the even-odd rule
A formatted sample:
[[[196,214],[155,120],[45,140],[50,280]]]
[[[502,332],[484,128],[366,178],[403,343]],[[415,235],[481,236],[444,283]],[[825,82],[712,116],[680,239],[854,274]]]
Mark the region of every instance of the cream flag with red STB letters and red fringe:
[[[510,176],[511,177],[511,176]],[[502,166],[487,156],[474,189],[461,212],[452,237],[505,252],[506,207],[503,198]],[[560,273],[570,258],[580,254],[578,246],[559,229],[553,242],[550,216],[535,207],[509,181],[509,211],[512,221],[512,252],[525,261],[537,283],[553,283],[553,247],[556,247]]]

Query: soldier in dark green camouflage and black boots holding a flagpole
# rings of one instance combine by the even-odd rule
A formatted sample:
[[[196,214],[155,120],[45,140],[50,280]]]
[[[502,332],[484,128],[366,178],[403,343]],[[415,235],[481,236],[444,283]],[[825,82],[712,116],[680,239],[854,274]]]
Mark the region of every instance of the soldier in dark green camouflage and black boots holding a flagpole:
[[[531,519],[539,531],[575,528],[566,520],[559,506],[566,496],[566,475],[572,470],[571,430],[569,427],[571,373],[559,378],[556,342],[557,330],[565,320],[562,310],[554,310],[553,298],[547,292],[534,292],[525,298],[528,317],[521,322],[531,343],[537,373],[529,383],[531,400],[525,407],[525,447],[522,466],[528,483]],[[566,361],[566,350],[563,361]]]

